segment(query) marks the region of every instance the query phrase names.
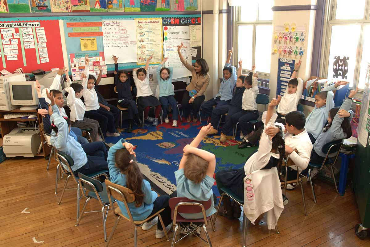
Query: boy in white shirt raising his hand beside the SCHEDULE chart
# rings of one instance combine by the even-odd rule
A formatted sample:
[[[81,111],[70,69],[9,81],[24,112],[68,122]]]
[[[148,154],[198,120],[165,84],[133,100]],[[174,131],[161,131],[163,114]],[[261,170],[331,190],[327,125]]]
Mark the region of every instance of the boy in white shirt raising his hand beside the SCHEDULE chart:
[[[277,123],[285,124],[285,116],[286,114],[290,113],[291,111],[297,110],[297,105],[299,100],[302,96],[303,92],[303,80],[300,79],[298,76],[298,70],[301,64],[301,60],[299,60],[295,66],[292,76],[290,76],[290,80],[288,81],[287,89],[277,106]],[[260,139],[261,133],[263,131],[263,126],[261,126],[252,136],[249,136],[245,142],[245,147],[252,147],[258,145],[258,141]]]

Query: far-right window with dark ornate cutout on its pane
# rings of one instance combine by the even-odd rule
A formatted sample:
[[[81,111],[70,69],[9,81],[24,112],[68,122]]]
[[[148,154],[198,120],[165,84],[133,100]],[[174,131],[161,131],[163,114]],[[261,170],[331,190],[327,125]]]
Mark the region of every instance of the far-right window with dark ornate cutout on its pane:
[[[350,88],[364,88],[367,63],[370,62],[370,0],[328,1],[326,38],[322,46],[322,77],[336,79],[336,59],[349,57],[344,68]],[[339,79],[343,79],[339,76]]]

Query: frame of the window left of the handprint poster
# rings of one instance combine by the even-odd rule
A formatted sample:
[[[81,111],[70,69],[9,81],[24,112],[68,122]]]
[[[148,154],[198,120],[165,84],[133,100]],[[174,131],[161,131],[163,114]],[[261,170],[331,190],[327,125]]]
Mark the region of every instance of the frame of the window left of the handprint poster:
[[[233,64],[236,64],[236,67],[238,67],[238,52],[239,52],[239,47],[238,47],[238,40],[239,40],[239,26],[253,26],[253,36],[252,36],[252,64],[255,64],[256,61],[256,27],[260,25],[271,25],[272,26],[272,20],[263,20],[259,21],[258,20],[258,15],[259,15],[259,4],[257,4],[257,20],[256,21],[240,21],[240,14],[241,14],[241,7],[235,7],[234,8],[234,39],[233,39],[233,47],[234,47],[234,56],[233,56]],[[272,33],[271,33],[272,36]],[[238,68],[239,69],[239,68]],[[243,74],[248,74],[251,70],[250,69],[243,69],[242,73]],[[258,77],[260,79],[265,79],[269,80],[270,78],[270,73],[258,71],[258,68],[256,68],[256,73],[258,73]]]

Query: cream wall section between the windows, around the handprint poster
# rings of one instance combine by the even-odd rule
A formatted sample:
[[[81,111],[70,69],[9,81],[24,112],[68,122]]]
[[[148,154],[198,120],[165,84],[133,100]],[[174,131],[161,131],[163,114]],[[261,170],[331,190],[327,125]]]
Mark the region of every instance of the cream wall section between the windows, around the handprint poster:
[[[274,6],[288,6],[288,5],[304,5],[316,4],[316,0],[275,0]],[[306,24],[306,41],[305,41],[305,54],[302,57],[302,63],[299,69],[298,76],[306,81],[311,76],[311,60],[312,60],[312,47],[313,47],[313,34],[315,25],[316,11],[314,10],[299,10],[299,11],[274,11],[272,24],[284,25],[284,23],[296,23],[298,25]],[[279,55],[271,55],[271,70],[270,70],[270,98],[276,97],[276,84],[277,84],[277,63]],[[298,60],[298,59],[297,59]],[[304,112],[307,115],[312,111],[313,107],[303,106]]]

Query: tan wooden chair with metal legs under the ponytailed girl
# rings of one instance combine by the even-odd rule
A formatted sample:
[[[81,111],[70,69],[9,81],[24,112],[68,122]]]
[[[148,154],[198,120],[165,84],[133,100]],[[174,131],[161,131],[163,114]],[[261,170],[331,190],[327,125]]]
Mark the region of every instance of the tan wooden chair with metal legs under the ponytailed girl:
[[[109,199],[109,202],[110,202],[110,208],[112,210],[113,215],[117,217],[117,220],[116,220],[116,222],[115,222],[115,224],[112,228],[111,234],[109,235],[108,240],[105,243],[105,247],[108,247],[108,244],[111,241],[111,238],[114,234],[114,231],[117,228],[118,222],[121,220],[121,218],[124,218],[125,220],[130,221],[132,226],[135,227],[135,231],[134,231],[134,246],[135,247],[137,247],[137,228],[141,227],[145,222],[152,220],[156,216],[158,216],[159,221],[161,221],[162,228],[164,229],[166,239],[167,239],[167,241],[169,241],[168,233],[165,230],[166,226],[164,225],[162,217],[159,214],[164,210],[164,208],[162,208],[161,210],[159,210],[157,213],[153,214],[152,216],[149,216],[145,220],[134,220],[134,218],[132,218],[131,211],[130,211],[130,209],[128,207],[128,204],[127,204],[127,203],[133,203],[135,201],[134,193],[130,189],[128,189],[124,186],[112,183],[109,180],[105,180],[105,185],[107,186],[107,194],[108,194],[108,199]],[[126,216],[124,216],[124,214],[122,214],[120,207],[114,208],[112,197],[117,199],[118,201],[122,201],[125,204],[125,208],[126,208],[128,217],[126,217]]]

